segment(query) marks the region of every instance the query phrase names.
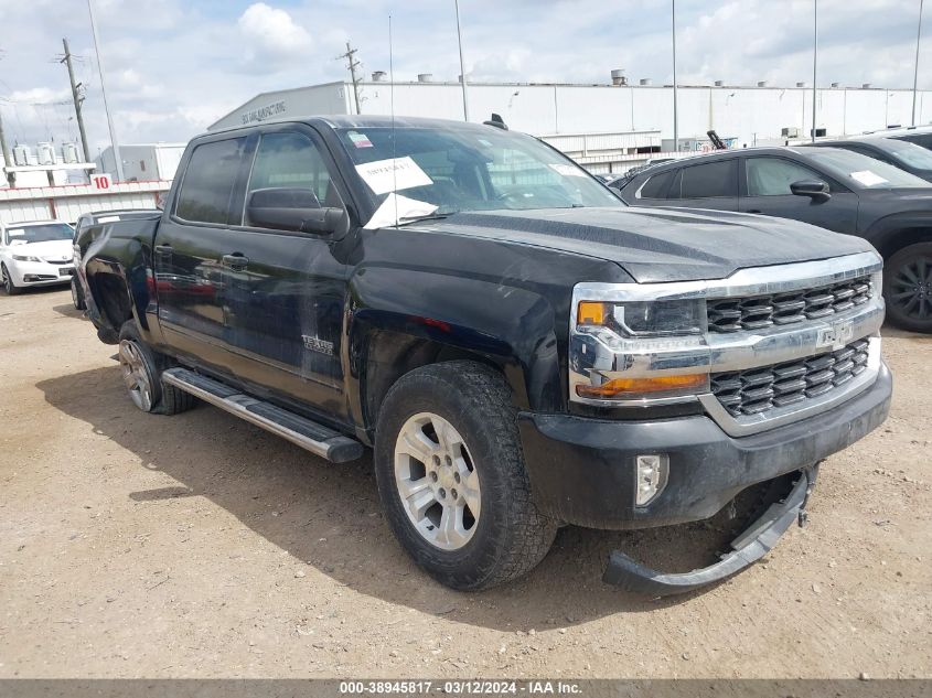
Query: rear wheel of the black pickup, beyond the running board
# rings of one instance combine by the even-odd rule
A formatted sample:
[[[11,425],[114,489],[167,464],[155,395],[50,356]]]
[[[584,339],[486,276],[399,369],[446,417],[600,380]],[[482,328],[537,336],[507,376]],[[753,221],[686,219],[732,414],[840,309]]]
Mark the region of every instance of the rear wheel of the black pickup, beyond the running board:
[[[139,336],[133,320],[125,322],[120,329],[118,357],[129,398],[143,412],[176,415],[194,405],[194,396],[162,383],[168,358],[149,348]]]

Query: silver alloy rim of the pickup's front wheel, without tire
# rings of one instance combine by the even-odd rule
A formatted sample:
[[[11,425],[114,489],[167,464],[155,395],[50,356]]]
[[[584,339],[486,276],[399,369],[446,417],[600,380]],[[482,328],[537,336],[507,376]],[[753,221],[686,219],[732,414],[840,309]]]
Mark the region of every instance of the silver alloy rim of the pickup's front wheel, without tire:
[[[479,473],[449,421],[420,412],[405,422],[395,442],[395,484],[425,540],[459,550],[472,539],[482,507]]]

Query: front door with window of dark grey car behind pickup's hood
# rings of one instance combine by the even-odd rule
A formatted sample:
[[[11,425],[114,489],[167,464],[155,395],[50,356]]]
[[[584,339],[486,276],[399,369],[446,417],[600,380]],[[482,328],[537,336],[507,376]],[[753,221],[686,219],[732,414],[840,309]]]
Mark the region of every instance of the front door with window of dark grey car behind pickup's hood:
[[[740,211],[811,223],[836,233],[854,235],[857,225],[858,197],[832,178],[775,155],[744,158]],[[828,184],[829,197],[797,196],[790,185],[804,180]]]

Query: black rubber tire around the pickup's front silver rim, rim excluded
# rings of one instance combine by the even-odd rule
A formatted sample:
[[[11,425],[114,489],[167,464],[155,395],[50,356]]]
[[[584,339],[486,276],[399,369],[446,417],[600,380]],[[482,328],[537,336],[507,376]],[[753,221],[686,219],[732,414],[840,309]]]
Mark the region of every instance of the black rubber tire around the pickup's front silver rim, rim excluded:
[[[443,550],[415,528],[395,482],[395,445],[409,418],[431,412],[461,436],[481,482],[481,515],[469,541]],[[431,577],[453,589],[480,590],[525,574],[547,555],[557,522],[534,504],[516,410],[503,377],[469,361],[425,366],[403,376],[379,409],[375,475],[392,530]],[[459,482],[459,481],[458,481]]]

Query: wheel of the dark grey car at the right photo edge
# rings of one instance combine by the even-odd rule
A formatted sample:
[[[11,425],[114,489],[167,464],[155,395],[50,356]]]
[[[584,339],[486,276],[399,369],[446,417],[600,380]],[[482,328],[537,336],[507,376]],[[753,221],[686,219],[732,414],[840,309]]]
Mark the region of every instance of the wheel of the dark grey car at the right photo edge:
[[[932,243],[892,255],[883,269],[887,318],[903,330],[932,332]]]

